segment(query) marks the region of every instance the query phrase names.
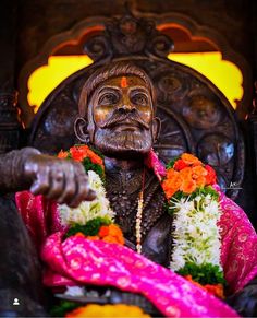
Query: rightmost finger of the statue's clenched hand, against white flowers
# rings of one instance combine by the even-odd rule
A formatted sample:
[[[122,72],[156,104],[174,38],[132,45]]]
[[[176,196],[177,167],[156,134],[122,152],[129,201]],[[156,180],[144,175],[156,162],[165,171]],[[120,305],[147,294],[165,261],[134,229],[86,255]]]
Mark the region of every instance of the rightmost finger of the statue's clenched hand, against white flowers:
[[[96,192],[89,188],[86,175],[81,175],[76,179],[77,192],[75,193],[70,207],[76,208],[82,201],[91,201],[96,198]]]

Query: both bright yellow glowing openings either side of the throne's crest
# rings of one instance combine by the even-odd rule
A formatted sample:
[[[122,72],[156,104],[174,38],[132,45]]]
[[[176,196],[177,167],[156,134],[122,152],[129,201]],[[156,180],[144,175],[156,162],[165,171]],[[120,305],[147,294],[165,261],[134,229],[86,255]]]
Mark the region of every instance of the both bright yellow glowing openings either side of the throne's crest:
[[[208,78],[236,107],[243,96],[243,76],[232,62],[222,60],[220,52],[170,54],[169,59],[188,66]],[[64,79],[89,66],[88,56],[51,56],[48,64],[35,70],[28,79],[27,99],[36,113],[44,99]]]

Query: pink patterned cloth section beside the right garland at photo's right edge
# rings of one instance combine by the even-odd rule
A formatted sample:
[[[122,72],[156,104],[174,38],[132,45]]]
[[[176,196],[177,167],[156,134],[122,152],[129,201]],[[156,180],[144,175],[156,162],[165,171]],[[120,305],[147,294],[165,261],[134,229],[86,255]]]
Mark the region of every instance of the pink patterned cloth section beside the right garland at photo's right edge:
[[[257,276],[257,235],[245,212],[222,192],[220,204],[221,263],[233,293]]]

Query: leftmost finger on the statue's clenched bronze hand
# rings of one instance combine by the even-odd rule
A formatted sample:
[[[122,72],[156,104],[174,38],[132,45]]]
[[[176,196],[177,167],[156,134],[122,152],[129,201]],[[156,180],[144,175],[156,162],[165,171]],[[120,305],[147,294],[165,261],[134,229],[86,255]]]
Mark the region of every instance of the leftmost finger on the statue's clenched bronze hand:
[[[49,167],[39,167],[36,174],[36,180],[30,187],[30,192],[34,196],[45,195],[48,192],[51,185]]]

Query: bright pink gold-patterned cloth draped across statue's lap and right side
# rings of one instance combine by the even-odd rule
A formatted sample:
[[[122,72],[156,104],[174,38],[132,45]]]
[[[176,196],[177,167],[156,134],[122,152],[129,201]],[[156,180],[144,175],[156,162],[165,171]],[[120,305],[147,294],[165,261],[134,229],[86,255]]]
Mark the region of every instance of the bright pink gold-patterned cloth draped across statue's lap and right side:
[[[231,292],[257,275],[257,236],[244,211],[220,193],[223,210],[221,263]],[[16,195],[16,203],[46,263],[47,286],[74,284],[110,285],[145,295],[169,317],[236,317],[206,291],[133,250],[105,242],[70,237],[60,224],[57,204],[28,191]],[[118,257],[119,256],[119,257]]]

